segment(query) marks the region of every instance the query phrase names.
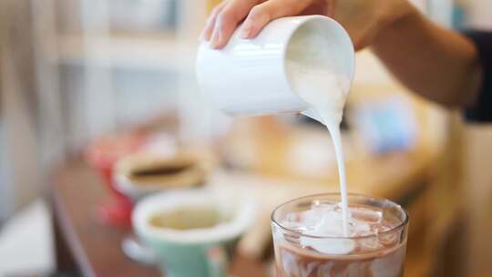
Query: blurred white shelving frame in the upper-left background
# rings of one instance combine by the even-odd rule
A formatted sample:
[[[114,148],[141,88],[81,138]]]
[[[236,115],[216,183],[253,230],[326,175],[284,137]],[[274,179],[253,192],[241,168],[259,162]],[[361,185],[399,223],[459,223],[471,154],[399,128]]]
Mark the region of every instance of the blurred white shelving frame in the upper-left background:
[[[36,5],[36,9],[44,9],[40,13],[44,17],[40,20],[44,22],[54,22],[50,16],[55,16],[54,9],[56,1],[50,0],[52,5]],[[117,71],[133,70],[135,72],[161,72],[162,79],[172,78],[175,87],[167,87],[162,91],[163,94],[174,93],[176,97],[162,97],[166,106],[169,101],[176,100],[176,109],[182,110],[183,106],[193,106],[200,108],[203,105],[194,103],[198,101],[194,80],[194,60],[197,46],[197,37],[200,28],[206,17],[206,1],[178,0],[178,15],[176,30],[174,31],[151,31],[144,32],[125,32],[115,33],[110,31],[110,16],[108,13],[108,3],[110,0],[75,0],[78,1],[76,7],[79,13],[75,18],[80,18],[79,32],[64,32],[56,34],[56,26],[45,25],[40,33],[46,34],[46,29],[54,34],[49,36],[50,47],[46,49],[45,55],[39,56],[45,65],[60,69],[60,67],[79,68],[80,83],[82,91],[76,95],[65,96],[65,100],[77,102],[77,105],[70,108],[69,117],[64,117],[64,130],[71,130],[71,134],[65,138],[67,149],[80,149],[87,143],[87,140],[95,136],[113,131],[121,127],[125,122],[121,122],[118,116],[118,91],[116,91],[115,78]],[[155,0],[168,1],[168,0]],[[36,1],[32,1],[36,3]],[[76,2],[77,3],[77,2]],[[142,1],[142,4],[145,4]],[[35,4],[33,4],[35,5]],[[51,11],[50,11],[51,10]],[[75,9],[77,10],[77,9]],[[128,16],[132,16],[129,14]],[[39,17],[39,16],[38,16]],[[46,37],[45,37],[46,38]],[[60,72],[55,72],[46,76],[46,72],[38,72],[38,79],[50,79],[51,83],[59,84]],[[46,83],[46,81],[45,81]],[[47,82],[50,83],[50,82]],[[60,87],[44,87],[41,92],[43,95],[57,95],[58,99],[63,98],[64,93]],[[49,91],[50,92],[49,92]],[[164,89],[163,89],[164,90]],[[127,93],[128,95],[128,93]],[[135,97],[139,97],[135,102],[141,103],[141,98],[146,97],[145,91],[138,92]],[[47,100],[46,107],[63,107],[63,103],[56,103],[56,97]],[[131,101],[129,101],[131,102]],[[125,101],[128,104],[128,101]],[[152,103],[155,104],[155,103]],[[184,122],[203,121],[190,115],[189,108],[184,108],[184,112],[179,112]],[[200,114],[200,111],[196,111]],[[128,112],[125,113],[128,116]],[[184,118],[183,118],[184,117]],[[193,117],[193,118],[186,118]],[[63,117],[62,117],[63,118]],[[204,118],[204,117],[201,117]],[[206,117],[205,117],[206,118]],[[203,124],[202,124],[203,125]],[[74,133],[75,132],[75,133]],[[188,134],[190,135],[190,134]],[[188,136],[187,135],[187,136]],[[183,137],[187,137],[183,136]]]

